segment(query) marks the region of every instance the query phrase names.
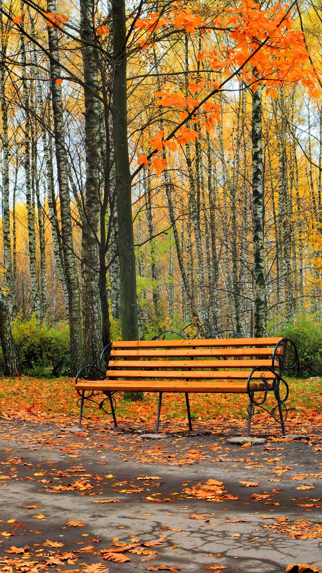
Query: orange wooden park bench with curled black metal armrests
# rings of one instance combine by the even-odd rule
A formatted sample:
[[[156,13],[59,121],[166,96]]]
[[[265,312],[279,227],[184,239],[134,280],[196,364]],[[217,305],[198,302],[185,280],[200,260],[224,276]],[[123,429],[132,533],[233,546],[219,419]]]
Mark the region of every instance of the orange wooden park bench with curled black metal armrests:
[[[288,348],[287,355],[286,348]],[[102,368],[103,359],[106,371]],[[114,424],[117,426],[113,394],[119,391],[159,393],[156,434],[159,430],[164,392],[185,394],[190,430],[192,430],[190,393],[238,393],[248,394],[250,399],[247,436],[250,433],[254,406],[261,407],[278,421],[282,427],[282,434],[285,435],[287,415],[285,402],[289,388],[282,378],[282,373],[291,370],[296,364],[296,346],[288,338],[113,342],[104,348],[99,368],[85,366],[76,376],[75,388],[80,395],[78,427],[81,427],[85,400],[95,402],[104,410],[104,402],[107,399],[111,406]],[[283,396],[281,396],[281,384],[284,384]],[[101,402],[96,401],[97,392],[103,393]],[[258,392],[260,392],[259,397],[255,397]],[[269,392],[272,392],[276,399],[276,405],[270,411],[264,407]],[[276,410],[278,418],[275,415]]]

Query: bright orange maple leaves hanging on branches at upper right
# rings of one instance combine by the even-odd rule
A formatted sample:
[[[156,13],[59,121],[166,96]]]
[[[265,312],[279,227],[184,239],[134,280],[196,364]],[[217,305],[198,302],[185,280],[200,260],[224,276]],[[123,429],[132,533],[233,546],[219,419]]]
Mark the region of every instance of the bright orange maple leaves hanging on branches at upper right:
[[[218,49],[201,50],[197,60],[207,60],[211,70],[218,74],[218,80],[209,81],[208,85],[206,80],[189,83],[191,94],[202,93],[199,99],[180,92],[171,93],[169,89],[155,93],[159,106],[179,112],[180,123],[191,119],[194,123],[205,125],[207,131],[212,131],[221,118],[219,105],[211,96],[222,89],[227,80],[234,77],[239,82],[243,81],[252,86],[253,91],[256,91],[259,85],[266,85],[266,95],[273,98],[277,97],[277,88],[298,83],[308,89],[310,96],[317,95],[320,74],[309,65],[309,53],[303,33],[296,29],[288,6],[276,5],[270,10],[262,10],[253,0],[242,0],[238,6],[226,6],[217,18],[205,22],[197,7],[189,8],[176,3],[166,17],[153,13],[147,18],[138,18],[135,22],[136,28],[144,32],[144,39],[140,42],[143,49],[153,44],[152,36],[160,28],[183,28],[193,36],[197,29],[206,33],[210,25],[217,30],[225,30],[222,41],[219,36]],[[194,129],[183,125],[172,138],[163,139],[163,135],[161,130],[151,140],[151,145],[156,150],[150,156],[151,174],[155,171],[156,175],[159,175],[166,168],[166,160],[164,157],[160,158],[158,153],[162,147],[174,152],[178,146],[194,142],[198,134]],[[138,163],[147,166],[147,156],[139,155]]]

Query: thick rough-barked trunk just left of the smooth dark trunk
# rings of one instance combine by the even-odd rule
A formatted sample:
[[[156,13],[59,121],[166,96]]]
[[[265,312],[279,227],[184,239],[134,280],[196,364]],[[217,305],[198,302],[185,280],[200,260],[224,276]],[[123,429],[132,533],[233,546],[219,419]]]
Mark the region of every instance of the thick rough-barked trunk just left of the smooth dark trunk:
[[[81,54],[84,69],[85,152],[86,183],[84,198],[84,223],[82,235],[82,273],[84,280],[84,358],[87,364],[98,364],[102,350],[102,325],[99,286],[99,218],[100,218],[100,100],[98,62],[93,35],[96,5],[93,0],[80,0],[83,41]],[[105,246],[105,241],[104,241]],[[104,251],[105,292],[106,265]],[[103,286],[103,285],[102,285]],[[104,286],[103,286],[104,289]],[[104,309],[106,312],[106,309]]]

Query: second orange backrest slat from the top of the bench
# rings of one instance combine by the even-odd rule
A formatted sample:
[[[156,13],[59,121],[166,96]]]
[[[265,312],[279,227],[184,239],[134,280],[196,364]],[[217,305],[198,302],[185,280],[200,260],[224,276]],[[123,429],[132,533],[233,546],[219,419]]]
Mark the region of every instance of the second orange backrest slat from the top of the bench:
[[[188,358],[189,356],[200,356],[206,358],[207,356],[272,356],[272,348],[189,348],[184,350],[163,350],[162,348],[155,348],[154,350],[136,350],[136,348],[128,348],[128,350],[112,350],[111,356],[121,358],[128,358],[130,356],[142,356],[143,358]]]

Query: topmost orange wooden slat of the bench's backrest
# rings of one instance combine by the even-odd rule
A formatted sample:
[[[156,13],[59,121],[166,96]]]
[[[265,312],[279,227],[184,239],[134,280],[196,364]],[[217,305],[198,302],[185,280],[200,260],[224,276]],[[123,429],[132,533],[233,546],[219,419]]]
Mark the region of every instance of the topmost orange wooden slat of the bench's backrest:
[[[281,337],[223,338],[210,340],[123,340],[113,342],[113,348],[209,348],[236,346],[276,346]]]

